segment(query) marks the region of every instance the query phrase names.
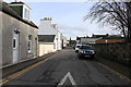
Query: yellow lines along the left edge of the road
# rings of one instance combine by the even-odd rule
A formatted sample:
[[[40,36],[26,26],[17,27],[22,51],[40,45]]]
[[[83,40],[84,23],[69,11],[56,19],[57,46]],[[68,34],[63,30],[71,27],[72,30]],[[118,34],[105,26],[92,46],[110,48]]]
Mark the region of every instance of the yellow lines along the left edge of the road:
[[[51,57],[52,57],[52,55],[51,55]],[[12,75],[10,75],[10,76],[1,79],[1,80],[0,80],[0,85],[3,85],[3,84],[5,84],[5,83],[8,83],[8,82],[11,82],[12,79],[14,79],[14,78],[16,78],[16,77],[25,74],[26,72],[31,71],[32,69],[34,69],[34,67],[36,67],[36,66],[45,63],[46,61],[48,61],[49,59],[51,59],[51,57],[48,57],[47,59],[45,59],[45,60],[43,60],[43,61],[39,61],[39,62],[37,62],[37,63],[35,63],[35,64],[26,67],[26,69],[23,69],[23,70],[20,71],[20,72],[16,72],[16,73],[14,73],[14,74],[12,74]]]

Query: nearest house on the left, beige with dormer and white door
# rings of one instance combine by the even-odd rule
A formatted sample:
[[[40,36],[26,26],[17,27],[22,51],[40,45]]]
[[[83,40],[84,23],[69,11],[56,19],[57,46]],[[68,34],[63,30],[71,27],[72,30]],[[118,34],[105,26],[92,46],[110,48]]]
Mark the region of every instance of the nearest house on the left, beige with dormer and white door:
[[[31,9],[23,2],[1,2],[1,65],[7,66],[36,58],[38,27],[29,20]]]

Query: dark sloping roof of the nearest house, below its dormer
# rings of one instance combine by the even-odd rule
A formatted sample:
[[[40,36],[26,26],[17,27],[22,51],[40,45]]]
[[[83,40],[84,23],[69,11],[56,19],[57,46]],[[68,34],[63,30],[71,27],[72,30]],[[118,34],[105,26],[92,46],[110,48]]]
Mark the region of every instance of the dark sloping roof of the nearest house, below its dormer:
[[[17,18],[19,21],[22,21],[22,22],[24,22],[24,23],[26,23],[26,24],[28,24],[28,25],[31,25],[31,26],[33,26],[33,27],[35,27],[35,28],[38,28],[32,21],[28,22],[28,21],[26,21],[26,20],[23,20],[23,18],[22,18],[15,11],[13,11],[13,10],[8,5],[8,3],[5,3],[5,2],[2,2],[2,12],[7,13],[7,14],[11,15],[12,17],[15,17],[15,18]]]

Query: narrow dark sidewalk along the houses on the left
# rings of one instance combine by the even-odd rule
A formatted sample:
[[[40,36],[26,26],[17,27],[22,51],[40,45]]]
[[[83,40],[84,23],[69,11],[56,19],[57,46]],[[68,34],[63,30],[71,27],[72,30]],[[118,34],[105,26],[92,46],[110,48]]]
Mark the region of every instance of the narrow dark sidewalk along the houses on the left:
[[[35,64],[36,62],[39,62],[46,58],[49,58],[51,55],[53,55],[56,52],[52,52],[52,53],[48,53],[48,54],[45,54],[43,57],[39,57],[39,58],[36,58],[36,59],[33,59],[33,60],[28,60],[28,61],[25,61],[25,62],[22,62],[22,63],[17,63],[17,64],[14,64],[14,65],[11,65],[11,66],[8,66],[8,67],[3,67],[2,69],[2,77],[5,77],[14,72],[17,72],[17,71],[21,71],[29,65],[33,65]]]

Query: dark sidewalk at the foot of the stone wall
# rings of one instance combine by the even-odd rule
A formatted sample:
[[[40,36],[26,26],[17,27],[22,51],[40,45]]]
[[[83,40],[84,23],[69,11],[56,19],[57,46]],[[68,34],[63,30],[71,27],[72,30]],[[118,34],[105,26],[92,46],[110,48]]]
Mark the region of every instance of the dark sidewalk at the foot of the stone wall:
[[[118,73],[129,77],[131,79],[131,70],[130,67],[122,65],[120,63],[104,59],[104,58],[97,58],[97,61],[103,63],[104,65],[117,71]]]

